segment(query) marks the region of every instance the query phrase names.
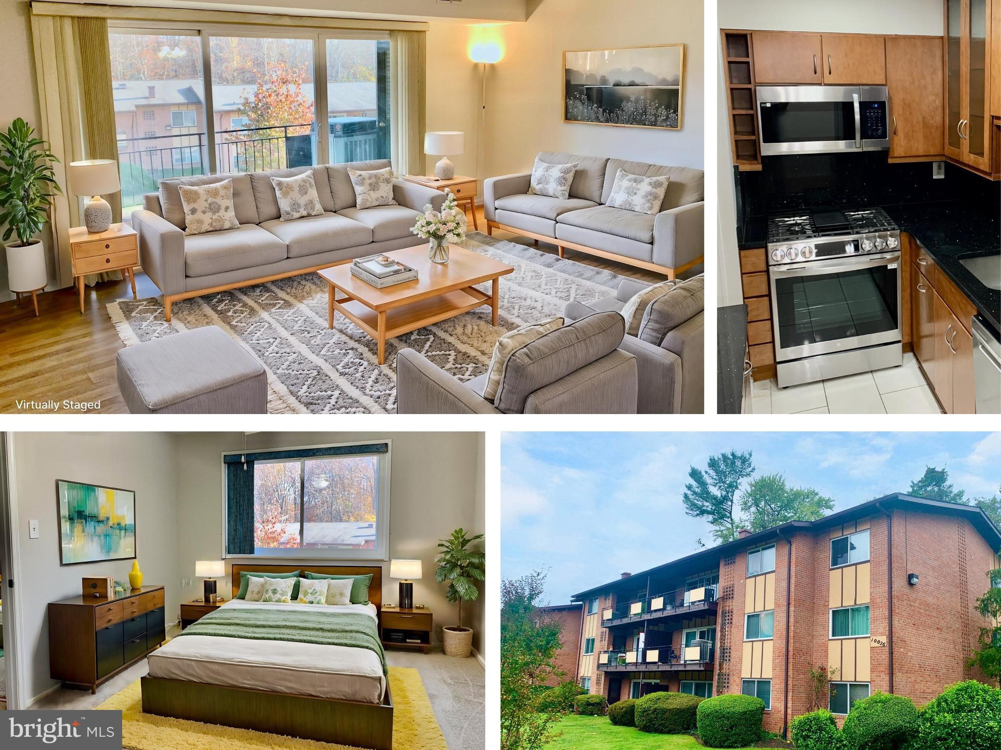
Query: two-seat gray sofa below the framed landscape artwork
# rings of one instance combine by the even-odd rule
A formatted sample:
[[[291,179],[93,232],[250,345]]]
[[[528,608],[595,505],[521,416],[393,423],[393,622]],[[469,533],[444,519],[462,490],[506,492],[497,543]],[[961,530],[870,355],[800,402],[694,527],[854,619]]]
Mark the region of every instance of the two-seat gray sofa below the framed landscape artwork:
[[[703,261],[704,173],[623,159],[544,152],[548,164],[578,162],[566,200],[530,195],[531,173],[483,181],[486,232],[504,229],[564,249],[600,255],[663,273],[669,279]],[[622,168],[645,177],[668,175],[668,190],[656,215],[605,203]]]

